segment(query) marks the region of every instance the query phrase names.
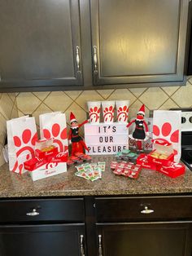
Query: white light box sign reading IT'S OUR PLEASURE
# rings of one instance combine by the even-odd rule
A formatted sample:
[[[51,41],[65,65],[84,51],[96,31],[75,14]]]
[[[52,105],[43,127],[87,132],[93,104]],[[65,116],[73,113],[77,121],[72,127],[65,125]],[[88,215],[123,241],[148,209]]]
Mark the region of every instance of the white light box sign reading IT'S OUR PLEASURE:
[[[129,130],[126,124],[85,124],[85,143],[89,155],[116,154],[129,148]]]

